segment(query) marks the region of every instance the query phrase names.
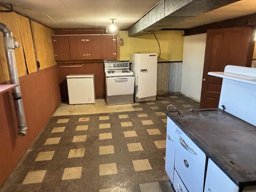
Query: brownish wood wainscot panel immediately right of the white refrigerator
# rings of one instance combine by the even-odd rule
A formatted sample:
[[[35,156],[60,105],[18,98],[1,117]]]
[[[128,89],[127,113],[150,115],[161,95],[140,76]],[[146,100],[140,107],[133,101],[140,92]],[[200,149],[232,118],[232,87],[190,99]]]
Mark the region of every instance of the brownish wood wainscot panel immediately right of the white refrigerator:
[[[157,94],[168,94],[170,63],[158,63]]]

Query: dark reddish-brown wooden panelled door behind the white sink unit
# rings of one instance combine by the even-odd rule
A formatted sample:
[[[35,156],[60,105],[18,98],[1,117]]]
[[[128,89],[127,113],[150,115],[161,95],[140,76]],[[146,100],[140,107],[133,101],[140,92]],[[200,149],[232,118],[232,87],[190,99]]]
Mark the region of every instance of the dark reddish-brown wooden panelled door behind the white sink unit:
[[[226,65],[252,64],[253,30],[235,27],[207,31],[200,108],[218,108],[222,78],[209,76],[210,71],[224,71]]]

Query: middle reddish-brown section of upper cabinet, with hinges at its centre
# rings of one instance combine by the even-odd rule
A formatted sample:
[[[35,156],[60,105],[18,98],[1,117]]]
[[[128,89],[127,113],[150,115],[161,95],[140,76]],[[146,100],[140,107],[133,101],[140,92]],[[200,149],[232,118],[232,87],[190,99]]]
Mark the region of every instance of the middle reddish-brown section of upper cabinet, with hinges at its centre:
[[[100,35],[71,35],[71,60],[100,59]]]

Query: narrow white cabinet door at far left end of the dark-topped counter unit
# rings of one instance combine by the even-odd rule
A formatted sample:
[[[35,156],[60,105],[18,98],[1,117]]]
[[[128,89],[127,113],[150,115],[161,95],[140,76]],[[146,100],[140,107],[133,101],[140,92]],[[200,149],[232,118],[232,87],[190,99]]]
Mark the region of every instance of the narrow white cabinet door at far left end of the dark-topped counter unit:
[[[165,170],[172,184],[173,184],[173,174],[174,174],[175,129],[176,129],[176,124],[169,117],[167,117]]]

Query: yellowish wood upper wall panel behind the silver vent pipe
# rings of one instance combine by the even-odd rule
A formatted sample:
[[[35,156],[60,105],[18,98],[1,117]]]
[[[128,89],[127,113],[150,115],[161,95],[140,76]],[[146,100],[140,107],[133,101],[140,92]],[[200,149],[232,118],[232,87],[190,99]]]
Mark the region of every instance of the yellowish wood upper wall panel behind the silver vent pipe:
[[[19,23],[18,23],[18,14],[16,14],[15,12],[9,12],[9,13],[0,12],[0,18],[1,18],[1,22],[10,28],[10,30],[12,31],[13,37],[16,38],[16,40],[18,40],[18,42],[21,46],[20,48],[16,48],[14,50],[14,52],[15,52],[18,76],[23,76],[23,75],[27,74],[27,72],[26,72],[26,66],[25,66],[24,52],[23,52],[23,48],[22,48],[22,38],[20,35],[20,28],[19,28]],[[4,72],[4,80],[9,80],[9,74],[8,74],[8,68],[7,68],[7,62],[6,62],[6,56],[5,56],[3,42],[4,42],[3,34],[1,32],[1,34],[0,34],[1,63],[2,63],[2,69]]]

